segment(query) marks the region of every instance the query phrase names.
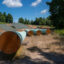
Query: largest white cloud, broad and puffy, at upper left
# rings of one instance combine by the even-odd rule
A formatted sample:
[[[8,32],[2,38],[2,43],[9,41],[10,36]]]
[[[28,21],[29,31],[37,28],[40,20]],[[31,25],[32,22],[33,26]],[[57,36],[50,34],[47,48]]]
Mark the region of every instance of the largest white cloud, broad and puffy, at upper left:
[[[20,0],[4,0],[3,4],[5,4],[8,7],[22,7],[23,6]]]

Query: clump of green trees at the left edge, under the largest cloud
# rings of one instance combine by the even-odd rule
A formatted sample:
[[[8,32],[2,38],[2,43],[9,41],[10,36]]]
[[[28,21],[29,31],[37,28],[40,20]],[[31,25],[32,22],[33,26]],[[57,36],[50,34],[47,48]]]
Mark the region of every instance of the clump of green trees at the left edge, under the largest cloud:
[[[10,13],[6,14],[6,12],[0,12],[0,22],[13,23],[13,16]]]

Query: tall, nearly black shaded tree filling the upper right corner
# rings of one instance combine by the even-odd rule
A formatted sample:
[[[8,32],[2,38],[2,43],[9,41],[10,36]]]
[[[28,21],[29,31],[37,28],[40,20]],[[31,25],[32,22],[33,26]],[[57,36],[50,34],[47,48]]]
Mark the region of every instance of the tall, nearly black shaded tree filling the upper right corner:
[[[50,6],[50,19],[56,28],[64,28],[64,0],[52,0],[47,2]]]

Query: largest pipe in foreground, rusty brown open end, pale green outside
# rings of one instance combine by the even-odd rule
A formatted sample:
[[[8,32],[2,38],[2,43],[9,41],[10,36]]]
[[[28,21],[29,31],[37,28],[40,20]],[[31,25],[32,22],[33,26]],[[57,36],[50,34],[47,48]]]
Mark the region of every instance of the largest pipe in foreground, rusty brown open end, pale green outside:
[[[7,31],[0,36],[0,59],[11,59],[20,48],[26,32]]]

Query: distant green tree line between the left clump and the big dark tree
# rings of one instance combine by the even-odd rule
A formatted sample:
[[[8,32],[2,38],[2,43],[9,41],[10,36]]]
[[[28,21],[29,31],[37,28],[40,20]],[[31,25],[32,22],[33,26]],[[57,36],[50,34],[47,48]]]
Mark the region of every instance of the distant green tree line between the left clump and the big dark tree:
[[[23,23],[23,24],[31,24],[31,25],[49,25],[51,26],[51,21],[48,18],[36,18],[35,20],[28,20],[28,19],[23,19],[22,17],[19,18],[18,20],[19,23]]]

